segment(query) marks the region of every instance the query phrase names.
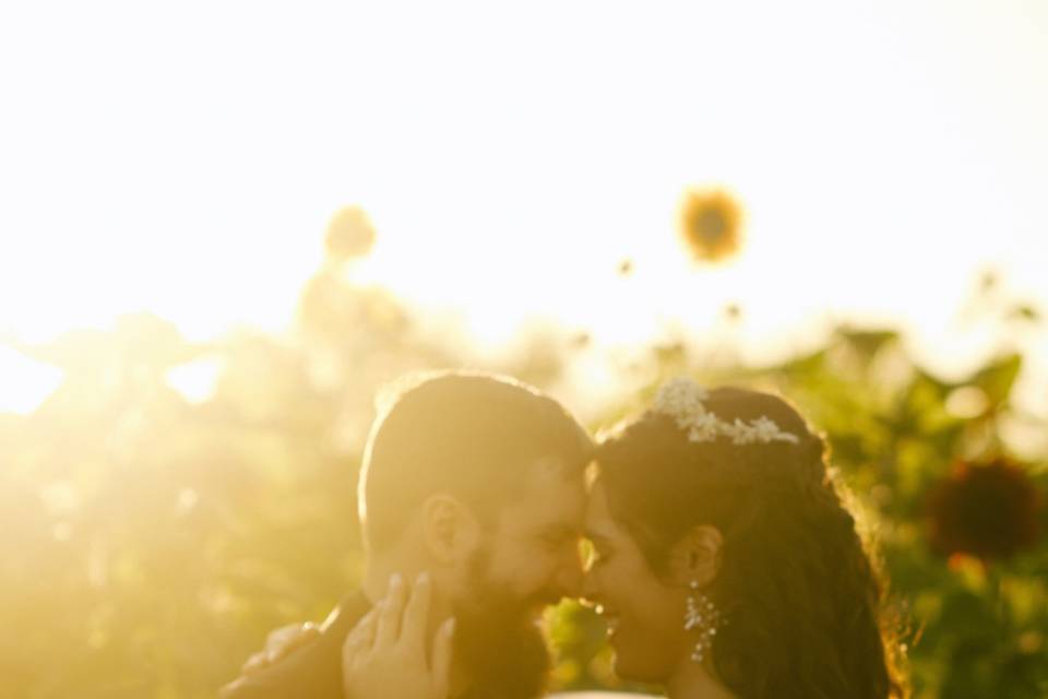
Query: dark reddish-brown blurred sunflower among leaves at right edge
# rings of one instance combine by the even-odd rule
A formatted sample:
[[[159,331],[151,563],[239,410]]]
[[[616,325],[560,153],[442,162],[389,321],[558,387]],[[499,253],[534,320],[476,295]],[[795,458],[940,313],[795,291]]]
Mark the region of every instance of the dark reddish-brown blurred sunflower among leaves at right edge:
[[[1040,493],[1005,459],[960,463],[928,497],[932,548],[940,554],[1008,558],[1037,542]]]

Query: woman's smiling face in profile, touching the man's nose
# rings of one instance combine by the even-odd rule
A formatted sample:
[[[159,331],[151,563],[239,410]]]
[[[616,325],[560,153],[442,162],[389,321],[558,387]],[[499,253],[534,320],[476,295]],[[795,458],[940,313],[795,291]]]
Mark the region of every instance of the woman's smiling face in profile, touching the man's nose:
[[[583,596],[597,605],[608,621],[616,674],[666,683],[690,656],[683,627],[687,585],[655,576],[636,542],[611,519],[599,481],[590,498],[585,529],[594,555]]]

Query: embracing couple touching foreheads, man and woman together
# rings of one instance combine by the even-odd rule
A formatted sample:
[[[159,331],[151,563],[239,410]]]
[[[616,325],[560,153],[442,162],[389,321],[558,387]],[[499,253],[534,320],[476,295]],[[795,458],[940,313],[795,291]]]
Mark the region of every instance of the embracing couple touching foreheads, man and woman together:
[[[539,697],[536,621],[564,596],[607,618],[621,677],[672,699],[903,697],[881,581],[824,455],[765,393],[676,379],[594,445],[531,387],[430,376],[368,439],[361,588],[223,697]]]

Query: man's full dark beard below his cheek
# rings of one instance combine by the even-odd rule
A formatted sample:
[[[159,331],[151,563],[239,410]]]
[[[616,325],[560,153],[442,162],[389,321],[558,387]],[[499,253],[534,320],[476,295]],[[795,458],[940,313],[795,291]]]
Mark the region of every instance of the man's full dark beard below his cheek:
[[[534,699],[551,666],[546,639],[532,613],[546,591],[521,600],[488,577],[488,550],[469,561],[471,591],[455,608],[454,656],[469,675],[468,699]]]

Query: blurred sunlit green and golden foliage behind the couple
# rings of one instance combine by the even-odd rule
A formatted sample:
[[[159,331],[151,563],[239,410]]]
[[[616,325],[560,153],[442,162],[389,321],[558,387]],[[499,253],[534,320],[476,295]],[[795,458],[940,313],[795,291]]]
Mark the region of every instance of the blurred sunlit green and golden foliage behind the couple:
[[[0,416],[5,696],[210,697],[269,629],[323,617],[355,583],[371,395],[407,369],[457,360],[414,337],[376,292],[335,285],[317,298],[325,305],[306,316],[323,328],[295,343],[237,335],[191,347],[168,331],[118,328],[106,352],[58,353],[76,359],[39,411]],[[158,359],[131,352],[143,336],[163,339],[164,352],[146,357]],[[200,356],[224,372],[210,400],[189,403],[165,372]],[[1044,538],[1012,559],[978,560],[945,559],[927,535],[927,494],[951,464],[1007,451],[1020,356],[944,381],[896,333],[855,330],[761,369],[711,370],[679,344],[654,356],[654,375],[774,388],[826,433],[905,605],[918,697],[1048,694]],[[562,367],[540,364],[492,368],[555,381]],[[1045,493],[1046,471],[1031,477]],[[560,687],[622,688],[591,611],[565,604],[549,621]]]

